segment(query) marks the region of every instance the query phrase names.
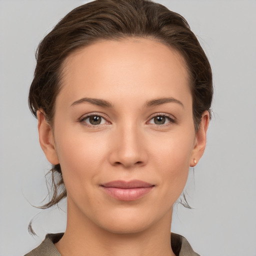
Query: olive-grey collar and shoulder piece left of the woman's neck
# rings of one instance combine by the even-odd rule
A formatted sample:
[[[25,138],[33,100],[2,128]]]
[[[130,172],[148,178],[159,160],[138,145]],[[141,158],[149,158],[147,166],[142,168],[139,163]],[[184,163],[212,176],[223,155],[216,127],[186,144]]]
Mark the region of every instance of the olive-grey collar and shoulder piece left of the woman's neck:
[[[54,243],[57,242],[62,235],[63,233],[47,234],[39,246],[24,256],[61,256],[54,246]]]

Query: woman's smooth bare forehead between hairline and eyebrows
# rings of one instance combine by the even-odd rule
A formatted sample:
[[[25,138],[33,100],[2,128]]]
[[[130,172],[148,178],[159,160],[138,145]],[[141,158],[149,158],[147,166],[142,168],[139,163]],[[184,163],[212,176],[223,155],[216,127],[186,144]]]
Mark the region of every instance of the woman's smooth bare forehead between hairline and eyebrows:
[[[97,41],[71,53],[62,66],[58,97],[69,102],[82,96],[124,101],[163,96],[189,101],[191,96],[183,57],[151,39]]]

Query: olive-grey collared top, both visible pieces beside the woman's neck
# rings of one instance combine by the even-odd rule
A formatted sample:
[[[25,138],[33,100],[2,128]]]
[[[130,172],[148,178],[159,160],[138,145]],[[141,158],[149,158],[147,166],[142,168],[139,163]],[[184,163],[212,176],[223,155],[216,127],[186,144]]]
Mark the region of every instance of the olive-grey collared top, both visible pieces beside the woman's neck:
[[[24,256],[61,256],[54,243],[62,237],[64,233],[47,234],[42,243]],[[177,256],[200,256],[195,253],[185,237],[171,233],[171,248]]]

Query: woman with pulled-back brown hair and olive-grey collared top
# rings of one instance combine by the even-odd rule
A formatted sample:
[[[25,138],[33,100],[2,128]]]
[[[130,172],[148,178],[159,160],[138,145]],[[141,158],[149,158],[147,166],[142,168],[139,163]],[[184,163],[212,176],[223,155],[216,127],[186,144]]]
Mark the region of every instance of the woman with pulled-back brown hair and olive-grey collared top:
[[[96,0],[40,42],[29,91],[53,165],[64,233],[29,255],[198,255],[170,233],[172,205],[203,154],[212,77],[179,14],[147,0]]]

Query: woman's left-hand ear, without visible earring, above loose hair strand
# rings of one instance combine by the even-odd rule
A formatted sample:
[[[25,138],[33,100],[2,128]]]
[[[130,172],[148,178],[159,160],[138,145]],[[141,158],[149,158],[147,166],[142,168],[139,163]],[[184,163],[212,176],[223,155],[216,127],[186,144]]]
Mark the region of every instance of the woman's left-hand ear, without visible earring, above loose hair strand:
[[[55,149],[55,142],[53,138],[52,128],[49,123],[45,120],[44,113],[37,110],[37,128],[39,134],[39,142],[41,148],[51,164],[58,164],[58,157]]]

